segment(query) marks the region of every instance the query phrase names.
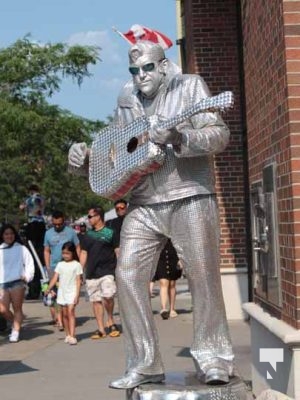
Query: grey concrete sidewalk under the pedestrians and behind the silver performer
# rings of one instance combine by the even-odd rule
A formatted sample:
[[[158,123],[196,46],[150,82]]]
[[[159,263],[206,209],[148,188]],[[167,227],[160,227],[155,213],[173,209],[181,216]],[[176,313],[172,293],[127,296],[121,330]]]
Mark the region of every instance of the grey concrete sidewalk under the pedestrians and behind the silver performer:
[[[163,321],[159,297],[152,299],[166,371],[194,371],[189,354],[192,340],[191,298],[185,279],[178,281],[178,317]],[[12,344],[0,336],[0,398],[17,400],[125,399],[125,392],[108,388],[123,374],[122,336],[89,339],[96,329],[90,303],[82,294],[77,307],[77,346],[64,343],[64,333],[49,325],[50,313],[41,301],[26,301],[22,340]],[[116,321],[119,316],[116,307]],[[250,331],[247,322],[230,321],[230,331],[241,377],[249,382]]]

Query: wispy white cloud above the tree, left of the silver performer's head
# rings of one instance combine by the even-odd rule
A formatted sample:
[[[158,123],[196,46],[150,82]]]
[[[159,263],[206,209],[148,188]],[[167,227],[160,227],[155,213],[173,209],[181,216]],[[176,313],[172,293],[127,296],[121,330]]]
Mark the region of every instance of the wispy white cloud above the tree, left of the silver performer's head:
[[[79,44],[82,46],[98,46],[101,47],[100,57],[105,62],[119,64],[121,57],[119,49],[115,41],[108,34],[108,31],[87,31],[77,32],[71,35],[67,44],[73,46]]]

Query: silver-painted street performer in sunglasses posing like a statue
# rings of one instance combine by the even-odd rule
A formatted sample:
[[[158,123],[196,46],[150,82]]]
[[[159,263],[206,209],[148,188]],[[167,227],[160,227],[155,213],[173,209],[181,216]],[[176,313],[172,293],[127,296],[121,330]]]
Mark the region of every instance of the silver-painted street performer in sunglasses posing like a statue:
[[[158,44],[137,42],[129,50],[129,67],[132,81],[119,95],[116,124],[144,115],[172,118],[210,96],[204,80],[181,74]],[[191,354],[197,375],[206,384],[226,384],[233,375],[234,355],[221,288],[214,154],[225,149],[230,133],[218,113],[205,112],[172,129],[153,126],[149,135],[164,148],[166,158],[160,169],[144,176],[131,191],[122,226],[116,280],[126,373],[110,387],[130,389],[164,380],[147,293],[167,238],[183,264],[191,291]],[[87,155],[85,146],[73,145],[70,165],[82,167]]]

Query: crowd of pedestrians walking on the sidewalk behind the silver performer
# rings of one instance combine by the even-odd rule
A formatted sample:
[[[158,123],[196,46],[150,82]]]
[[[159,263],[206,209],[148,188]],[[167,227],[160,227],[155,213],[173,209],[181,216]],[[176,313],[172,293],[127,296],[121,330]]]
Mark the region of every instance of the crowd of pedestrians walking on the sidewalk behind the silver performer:
[[[96,321],[96,330],[91,339],[102,339],[107,335],[119,337],[121,329],[114,320],[117,293],[115,269],[121,227],[128,208],[127,201],[120,199],[115,202],[117,216],[107,222],[102,207],[90,208],[87,212],[88,223],[80,222],[76,229],[67,226],[65,215],[59,210],[52,213],[51,225],[46,229],[44,207],[45,201],[38,186],[31,185],[28,198],[20,204],[20,209],[27,213],[28,220],[23,232],[23,241],[13,225],[2,224],[1,227],[0,317],[11,325],[9,341],[18,342],[22,337],[22,306],[27,292],[27,300],[41,299],[43,296],[44,304],[49,307],[50,324],[60,331],[65,331],[65,343],[77,344],[75,310],[83,285]],[[28,241],[32,242],[35,254],[30,246],[26,246]],[[172,272],[169,277],[172,280],[168,280],[169,289],[166,289],[164,279],[159,275],[169,274],[168,252],[171,243],[168,246],[161,254],[154,278],[159,279],[161,284],[163,319],[176,316],[174,304],[177,278],[173,280]],[[171,258],[174,251],[173,248]],[[173,265],[174,260],[171,261]],[[176,263],[177,261],[178,258]],[[41,273],[41,266],[44,273]],[[178,271],[179,277],[181,272]],[[43,281],[43,276],[48,279]],[[167,293],[171,294],[169,310]]]

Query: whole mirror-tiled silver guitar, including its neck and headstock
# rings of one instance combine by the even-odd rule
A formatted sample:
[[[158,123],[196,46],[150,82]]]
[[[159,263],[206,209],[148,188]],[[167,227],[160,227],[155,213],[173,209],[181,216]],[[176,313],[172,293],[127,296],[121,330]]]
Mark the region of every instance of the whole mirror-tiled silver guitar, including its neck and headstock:
[[[200,112],[215,112],[233,105],[233,93],[206,97],[180,115],[160,120],[156,115],[137,118],[125,126],[109,126],[97,134],[90,153],[89,181],[101,197],[124,197],[146,174],[163,164],[165,152],[149,140],[150,127],[170,129]]]

